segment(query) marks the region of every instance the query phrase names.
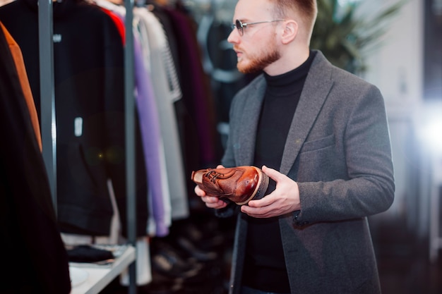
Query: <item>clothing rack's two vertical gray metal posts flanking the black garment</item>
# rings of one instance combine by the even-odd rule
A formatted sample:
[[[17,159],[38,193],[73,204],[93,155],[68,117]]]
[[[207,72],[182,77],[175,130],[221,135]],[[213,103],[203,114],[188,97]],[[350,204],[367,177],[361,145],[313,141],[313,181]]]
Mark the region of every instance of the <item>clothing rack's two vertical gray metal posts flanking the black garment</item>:
[[[62,1],[62,0],[57,0]],[[125,76],[125,128],[126,128],[126,193],[128,243],[136,248],[136,197],[135,197],[135,121],[133,109],[133,0],[124,1],[126,6],[126,45],[124,48]],[[40,94],[42,156],[47,169],[52,202],[56,212],[56,123],[54,97],[54,56],[52,47],[52,1],[39,1],[39,48],[40,48]],[[129,264],[129,293],[136,294],[136,262],[133,254]],[[122,271],[123,269],[121,269]],[[88,292],[90,293],[90,292]]]

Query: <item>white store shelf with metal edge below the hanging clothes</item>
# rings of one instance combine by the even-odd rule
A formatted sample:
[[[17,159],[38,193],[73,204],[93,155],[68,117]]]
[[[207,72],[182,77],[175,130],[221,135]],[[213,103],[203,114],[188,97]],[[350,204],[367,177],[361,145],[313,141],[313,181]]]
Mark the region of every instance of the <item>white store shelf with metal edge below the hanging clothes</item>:
[[[115,259],[112,265],[97,266],[95,264],[70,264],[73,269],[78,269],[84,273],[87,278],[76,285],[73,285],[71,294],[95,294],[100,293],[111,281],[121,274],[129,265],[135,261],[135,247],[128,245],[124,253]],[[71,278],[72,280],[72,278]]]

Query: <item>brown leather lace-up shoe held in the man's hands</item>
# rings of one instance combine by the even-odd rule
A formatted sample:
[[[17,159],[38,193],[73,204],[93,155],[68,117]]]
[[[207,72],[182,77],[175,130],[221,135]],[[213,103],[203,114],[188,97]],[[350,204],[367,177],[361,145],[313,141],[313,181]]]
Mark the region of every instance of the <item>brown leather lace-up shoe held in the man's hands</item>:
[[[192,180],[207,195],[227,198],[238,205],[261,199],[268,187],[268,176],[256,166],[192,171]]]

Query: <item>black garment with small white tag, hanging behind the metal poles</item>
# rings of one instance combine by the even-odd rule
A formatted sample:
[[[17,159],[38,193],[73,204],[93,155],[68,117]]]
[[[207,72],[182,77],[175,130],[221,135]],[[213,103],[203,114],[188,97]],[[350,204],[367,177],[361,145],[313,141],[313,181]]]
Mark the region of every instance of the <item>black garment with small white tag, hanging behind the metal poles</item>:
[[[107,235],[113,214],[107,179],[126,220],[124,47],[117,26],[98,6],[63,0],[52,8],[59,223],[67,233]],[[0,20],[22,48],[40,112],[37,0],[0,7]],[[145,166],[136,161],[137,227],[145,235]]]

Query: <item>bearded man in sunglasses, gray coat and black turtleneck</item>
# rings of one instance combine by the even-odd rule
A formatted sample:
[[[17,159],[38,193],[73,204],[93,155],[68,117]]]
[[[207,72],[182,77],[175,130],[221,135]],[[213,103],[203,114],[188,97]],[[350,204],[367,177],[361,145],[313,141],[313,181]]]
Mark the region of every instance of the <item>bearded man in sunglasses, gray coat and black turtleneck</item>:
[[[309,49],[315,0],[239,0],[228,41],[242,73],[263,71],[232,101],[221,167],[262,167],[265,197],[238,215],[230,293],[380,293],[367,216],[394,198],[379,90]]]

